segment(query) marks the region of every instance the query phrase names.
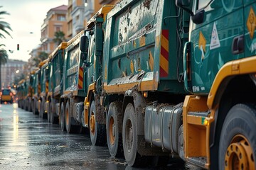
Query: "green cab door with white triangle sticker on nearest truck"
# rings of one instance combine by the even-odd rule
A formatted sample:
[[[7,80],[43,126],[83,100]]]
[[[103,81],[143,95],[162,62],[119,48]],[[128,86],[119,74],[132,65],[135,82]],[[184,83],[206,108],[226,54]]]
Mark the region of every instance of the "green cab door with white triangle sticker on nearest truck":
[[[242,5],[243,1],[194,0],[190,34],[193,93],[208,94],[223,64],[244,57]]]

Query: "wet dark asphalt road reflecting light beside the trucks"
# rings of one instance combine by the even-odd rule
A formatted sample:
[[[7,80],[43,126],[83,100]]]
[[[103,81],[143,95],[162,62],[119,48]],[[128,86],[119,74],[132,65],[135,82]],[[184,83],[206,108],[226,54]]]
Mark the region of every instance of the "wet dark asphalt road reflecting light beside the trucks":
[[[61,132],[38,115],[0,105],[0,169],[126,169],[124,159],[113,159],[107,147],[91,145],[90,135]],[[140,168],[141,169],[141,168]],[[199,169],[181,161],[144,169]]]

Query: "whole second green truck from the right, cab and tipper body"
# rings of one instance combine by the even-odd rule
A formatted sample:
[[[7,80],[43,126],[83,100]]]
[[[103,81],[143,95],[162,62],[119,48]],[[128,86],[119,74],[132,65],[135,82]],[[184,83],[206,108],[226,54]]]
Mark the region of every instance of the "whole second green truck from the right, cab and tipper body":
[[[95,38],[91,38],[95,44],[103,42],[102,23],[112,8],[112,5],[103,6],[88,21],[87,30],[81,31],[68,41],[65,48],[63,95],[60,96],[60,127],[67,132],[81,132],[89,128],[92,145],[105,145],[106,128],[102,114],[104,106],[100,105],[101,90],[96,89],[95,86],[101,84],[102,60],[98,60],[97,57],[102,56],[102,50],[93,46],[89,50],[90,57],[87,57],[88,36],[95,35]],[[100,116],[100,121],[97,121],[97,115]]]

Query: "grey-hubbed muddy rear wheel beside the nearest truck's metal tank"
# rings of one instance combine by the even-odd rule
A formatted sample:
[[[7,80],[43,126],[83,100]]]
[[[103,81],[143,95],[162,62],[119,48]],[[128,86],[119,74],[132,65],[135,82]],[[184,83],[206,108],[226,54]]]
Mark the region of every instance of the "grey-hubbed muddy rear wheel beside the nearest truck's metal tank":
[[[129,103],[124,111],[122,142],[127,164],[137,166],[142,157],[137,152],[137,121],[132,103]]]

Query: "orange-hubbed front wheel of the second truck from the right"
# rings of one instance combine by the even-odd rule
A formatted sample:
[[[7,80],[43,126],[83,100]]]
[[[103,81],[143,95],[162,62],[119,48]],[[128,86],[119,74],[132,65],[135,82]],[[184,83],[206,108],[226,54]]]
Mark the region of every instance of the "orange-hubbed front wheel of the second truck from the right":
[[[105,145],[106,142],[106,128],[105,125],[100,125],[96,122],[96,107],[95,101],[92,101],[90,106],[90,140],[92,145]]]

